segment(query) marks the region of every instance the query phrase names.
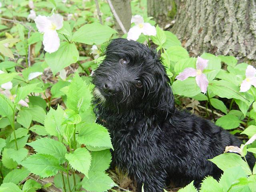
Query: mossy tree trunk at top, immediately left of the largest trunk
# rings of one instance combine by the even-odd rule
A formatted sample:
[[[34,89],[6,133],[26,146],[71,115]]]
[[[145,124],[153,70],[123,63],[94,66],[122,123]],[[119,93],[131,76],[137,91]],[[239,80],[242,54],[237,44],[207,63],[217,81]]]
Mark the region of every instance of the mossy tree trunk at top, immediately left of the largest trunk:
[[[147,9],[148,17],[154,17],[156,23],[161,27],[169,24],[176,14],[176,4],[174,0],[148,0]]]

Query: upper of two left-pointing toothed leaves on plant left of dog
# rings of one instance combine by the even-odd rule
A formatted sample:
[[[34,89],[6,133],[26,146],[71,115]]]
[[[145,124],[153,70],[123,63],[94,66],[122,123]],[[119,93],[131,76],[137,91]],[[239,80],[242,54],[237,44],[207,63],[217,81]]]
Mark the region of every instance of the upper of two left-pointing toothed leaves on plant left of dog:
[[[66,147],[59,141],[47,137],[37,139],[27,145],[32,146],[37,154],[49,154],[56,157],[60,163],[64,163]]]

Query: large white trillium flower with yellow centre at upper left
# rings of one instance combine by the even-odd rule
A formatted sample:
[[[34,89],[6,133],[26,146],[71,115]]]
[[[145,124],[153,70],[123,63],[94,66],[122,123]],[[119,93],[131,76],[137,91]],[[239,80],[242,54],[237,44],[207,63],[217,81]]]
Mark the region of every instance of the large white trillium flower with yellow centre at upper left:
[[[44,33],[44,50],[53,53],[60,47],[60,38],[56,30],[63,26],[63,17],[59,14],[52,14],[50,17],[38,15],[35,19],[36,27],[40,33]]]

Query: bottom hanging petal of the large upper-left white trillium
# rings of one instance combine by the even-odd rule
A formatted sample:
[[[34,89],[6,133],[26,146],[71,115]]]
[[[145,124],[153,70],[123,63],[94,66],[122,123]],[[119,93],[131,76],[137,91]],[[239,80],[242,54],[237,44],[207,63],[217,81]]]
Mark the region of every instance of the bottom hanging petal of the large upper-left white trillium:
[[[55,30],[49,30],[44,33],[43,40],[44,50],[53,53],[60,47],[60,38]]]

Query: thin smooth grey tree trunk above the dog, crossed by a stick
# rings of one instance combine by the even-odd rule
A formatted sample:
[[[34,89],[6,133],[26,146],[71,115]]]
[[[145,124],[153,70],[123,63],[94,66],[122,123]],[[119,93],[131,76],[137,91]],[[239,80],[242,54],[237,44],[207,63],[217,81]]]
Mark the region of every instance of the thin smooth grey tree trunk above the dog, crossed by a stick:
[[[124,28],[128,32],[131,27],[132,18],[130,0],[111,0],[111,2],[114,6],[114,9],[116,10],[116,14],[118,14],[122,24],[124,25]],[[122,36],[124,33],[122,32],[121,27],[116,21],[116,18],[114,18],[114,21],[117,32],[120,34],[120,36]]]

